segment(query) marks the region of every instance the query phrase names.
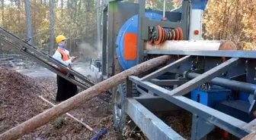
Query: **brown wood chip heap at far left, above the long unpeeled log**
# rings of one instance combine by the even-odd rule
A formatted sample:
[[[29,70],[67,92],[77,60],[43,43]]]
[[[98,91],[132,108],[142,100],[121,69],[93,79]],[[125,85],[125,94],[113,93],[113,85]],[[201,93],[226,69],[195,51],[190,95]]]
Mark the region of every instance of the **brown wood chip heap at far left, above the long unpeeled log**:
[[[49,91],[33,79],[6,68],[0,68],[0,79],[0,133],[50,107],[37,96]]]

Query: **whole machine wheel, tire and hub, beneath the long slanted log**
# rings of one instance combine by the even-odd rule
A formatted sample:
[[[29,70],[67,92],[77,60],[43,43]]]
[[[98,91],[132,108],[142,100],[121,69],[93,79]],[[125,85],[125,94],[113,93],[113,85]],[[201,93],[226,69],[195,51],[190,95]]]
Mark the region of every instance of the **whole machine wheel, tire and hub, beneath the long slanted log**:
[[[138,96],[138,91],[136,86],[133,85],[133,97]],[[117,132],[123,133],[124,126],[126,126],[126,117],[125,112],[126,107],[126,82],[117,86],[113,94],[114,110],[113,110],[113,123],[114,129]]]

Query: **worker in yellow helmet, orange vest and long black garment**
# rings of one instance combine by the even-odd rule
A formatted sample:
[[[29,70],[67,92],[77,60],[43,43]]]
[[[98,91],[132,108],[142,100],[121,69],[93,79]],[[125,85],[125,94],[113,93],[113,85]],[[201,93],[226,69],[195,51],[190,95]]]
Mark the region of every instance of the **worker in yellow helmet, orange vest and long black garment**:
[[[77,57],[69,57],[69,51],[66,50],[66,37],[62,35],[57,36],[56,43],[58,44],[58,48],[53,54],[53,58],[55,58],[62,64],[65,64],[67,67],[71,67],[72,62],[75,61]],[[70,76],[74,78],[73,75]],[[58,91],[56,95],[56,101],[65,101],[66,99],[71,98],[78,92],[77,86],[75,84],[69,82],[68,80],[62,78],[59,75],[57,75],[57,86]]]

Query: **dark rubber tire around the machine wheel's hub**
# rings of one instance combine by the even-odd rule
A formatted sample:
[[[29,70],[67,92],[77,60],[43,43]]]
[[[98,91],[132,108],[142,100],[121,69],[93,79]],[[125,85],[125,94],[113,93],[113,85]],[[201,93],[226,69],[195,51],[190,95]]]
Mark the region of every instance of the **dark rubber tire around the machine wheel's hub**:
[[[115,108],[113,109],[113,123],[114,123],[114,129],[115,131],[119,132],[119,133],[123,133],[123,129],[126,126],[126,119],[127,119],[127,114],[124,111],[126,107],[126,82],[120,84],[119,86],[117,86],[117,88],[114,90],[114,95],[113,95],[113,101],[115,101],[115,97],[117,92],[120,92],[120,101],[121,101],[121,114],[120,114],[120,122],[118,122],[117,118],[116,118],[116,114],[115,114]],[[139,96],[138,94],[139,92],[136,89],[136,85],[133,84],[133,97],[137,97]],[[114,104],[115,105],[115,104]]]

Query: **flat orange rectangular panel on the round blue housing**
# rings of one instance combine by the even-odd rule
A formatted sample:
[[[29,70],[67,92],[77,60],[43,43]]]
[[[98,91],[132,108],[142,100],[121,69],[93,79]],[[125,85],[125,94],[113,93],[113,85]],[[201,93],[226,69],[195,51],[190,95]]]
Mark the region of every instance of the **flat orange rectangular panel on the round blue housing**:
[[[123,58],[133,61],[137,57],[137,35],[136,33],[126,33],[123,42]]]

